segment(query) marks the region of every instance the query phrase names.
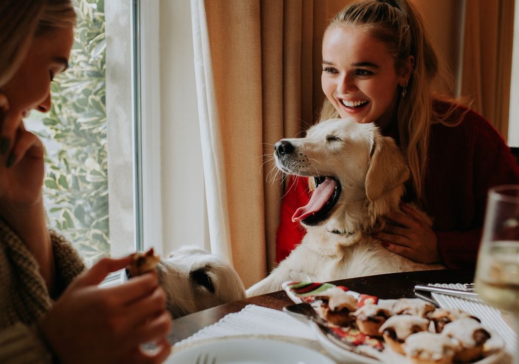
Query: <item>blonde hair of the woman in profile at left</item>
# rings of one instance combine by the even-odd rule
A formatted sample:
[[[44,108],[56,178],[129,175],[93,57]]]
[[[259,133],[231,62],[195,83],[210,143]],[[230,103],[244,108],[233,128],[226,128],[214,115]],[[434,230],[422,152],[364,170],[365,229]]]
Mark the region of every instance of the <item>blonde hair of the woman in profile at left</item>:
[[[0,87],[16,72],[34,36],[75,25],[71,0],[2,0],[0,2]]]

